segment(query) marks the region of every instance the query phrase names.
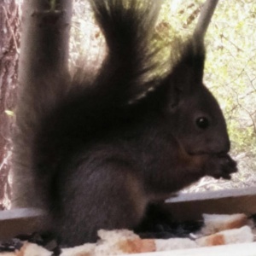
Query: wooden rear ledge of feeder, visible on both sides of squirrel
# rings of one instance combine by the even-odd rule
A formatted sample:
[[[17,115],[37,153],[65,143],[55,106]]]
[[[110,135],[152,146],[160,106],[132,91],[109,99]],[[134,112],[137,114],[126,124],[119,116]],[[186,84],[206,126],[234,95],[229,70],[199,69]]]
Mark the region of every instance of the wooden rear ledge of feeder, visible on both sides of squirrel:
[[[243,212],[249,216],[256,213],[256,188],[181,194],[168,200],[165,207],[177,221],[201,219],[202,213]],[[0,211],[0,239],[38,230],[40,218],[43,212],[36,209]]]

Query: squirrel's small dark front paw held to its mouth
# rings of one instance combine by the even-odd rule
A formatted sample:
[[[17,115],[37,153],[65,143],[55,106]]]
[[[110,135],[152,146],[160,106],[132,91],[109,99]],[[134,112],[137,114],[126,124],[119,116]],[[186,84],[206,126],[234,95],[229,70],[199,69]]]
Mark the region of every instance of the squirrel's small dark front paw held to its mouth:
[[[206,165],[207,175],[224,179],[230,179],[231,173],[237,172],[236,161],[229,154],[214,155]]]

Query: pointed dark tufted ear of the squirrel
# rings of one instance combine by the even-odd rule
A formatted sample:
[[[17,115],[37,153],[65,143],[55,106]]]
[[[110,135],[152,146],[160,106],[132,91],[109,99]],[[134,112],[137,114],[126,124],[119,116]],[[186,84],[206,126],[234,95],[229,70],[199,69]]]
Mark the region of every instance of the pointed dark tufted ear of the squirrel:
[[[203,86],[205,49],[203,44],[190,40],[184,45],[181,57],[167,76],[169,107],[176,108],[183,97],[196,93]]]

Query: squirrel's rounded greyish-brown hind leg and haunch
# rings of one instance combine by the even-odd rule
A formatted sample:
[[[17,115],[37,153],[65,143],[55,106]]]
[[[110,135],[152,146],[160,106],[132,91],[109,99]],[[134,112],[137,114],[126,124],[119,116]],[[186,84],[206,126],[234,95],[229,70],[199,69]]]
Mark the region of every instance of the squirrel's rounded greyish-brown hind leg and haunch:
[[[131,166],[108,160],[76,171],[59,186],[61,205],[53,212],[63,245],[95,242],[97,230],[133,229],[141,221],[148,201]]]

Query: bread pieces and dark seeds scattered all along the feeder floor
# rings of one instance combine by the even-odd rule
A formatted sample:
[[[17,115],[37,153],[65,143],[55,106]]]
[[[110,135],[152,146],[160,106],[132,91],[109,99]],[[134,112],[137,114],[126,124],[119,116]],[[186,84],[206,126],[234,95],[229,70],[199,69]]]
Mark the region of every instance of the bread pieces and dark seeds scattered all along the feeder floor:
[[[188,234],[188,237],[173,237],[174,234],[170,234],[172,238],[168,239],[145,239],[131,230],[99,230],[100,239],[96,243],[72,248],[60,247],[50,234],[17,236],[11,241],[1,242],[0,256],[107,256],[255,241],[255,222],[243,213],[203,214],[203,220],[201,229]]]

